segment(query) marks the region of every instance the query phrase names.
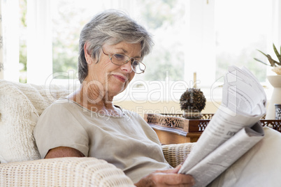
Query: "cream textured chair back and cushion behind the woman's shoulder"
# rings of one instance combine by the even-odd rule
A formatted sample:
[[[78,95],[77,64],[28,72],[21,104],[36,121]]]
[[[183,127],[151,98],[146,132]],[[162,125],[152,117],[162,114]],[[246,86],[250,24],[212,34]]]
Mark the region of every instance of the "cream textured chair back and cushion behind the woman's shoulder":
[[[67,86],[37,86],[0,80],[0,162],[40,158],[33,130],[39,115],[57,98],[69,95]]]

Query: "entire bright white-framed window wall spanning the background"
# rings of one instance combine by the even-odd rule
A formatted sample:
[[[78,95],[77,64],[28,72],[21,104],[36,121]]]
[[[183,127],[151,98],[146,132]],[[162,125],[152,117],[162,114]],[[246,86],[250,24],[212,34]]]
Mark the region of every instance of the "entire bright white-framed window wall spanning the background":
[[[27,69],[27,82],[36,84],[76,77],[80,30],[94,14],[109,8],[128,13],[154,36],[154,49],[144,59],[147,70],[130,85],[134,99],[145,94],[155,102],[178,99],[194,84],[194,73],[197,86],[210,98],[210,87],[222,84],[219,78],[229,65],[246,66],[265,82],[269,71],[253,58],[266,61],[257,49],[271,54],[273,42],[281,45],[278,0],[18,0],[16,6],[4,2],[7,43],[20,36],[21,69]],[[19,20],[8,14],[15,11],[20,12],[22,26],[20,33],[11,34],[8,30],[16,31]],[[6,46],[6,67],[18,61],[9,60],[15,50]],[[8,69],[5,77],[18,71]]]

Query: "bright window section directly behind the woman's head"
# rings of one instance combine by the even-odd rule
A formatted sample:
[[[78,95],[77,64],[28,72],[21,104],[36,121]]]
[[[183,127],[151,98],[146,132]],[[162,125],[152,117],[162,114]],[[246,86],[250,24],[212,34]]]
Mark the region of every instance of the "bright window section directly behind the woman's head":
[[[142,80],[166,80],[166,71],[168,71],[170,80],[182,80],[184,40],[181,38],[185,37],[184,24],[182,24],[185,22],[185,1],[127,0],[119,2],[115,5],[112,1],[99,3],[85,0],[52,1],[53,72],[77,69],[80,30],[94,14],[117,6],[118,9],[124,10],[141,22],[154,35],[154,50],[149,57],[144,59],[147,70],[145,74],[137,77]]]

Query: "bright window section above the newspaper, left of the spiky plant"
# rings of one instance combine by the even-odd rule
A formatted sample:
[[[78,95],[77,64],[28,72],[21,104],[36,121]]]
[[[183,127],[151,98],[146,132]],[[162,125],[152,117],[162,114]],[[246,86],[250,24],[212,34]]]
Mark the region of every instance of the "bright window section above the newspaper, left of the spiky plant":
[[[270,13],[271,3],[266,0],[215,1],[216,79],[228,66],[236,65],[249,68],[259,81],[266,81],[266,66],[253,58],[266,61],[257,49],[266,51]]]

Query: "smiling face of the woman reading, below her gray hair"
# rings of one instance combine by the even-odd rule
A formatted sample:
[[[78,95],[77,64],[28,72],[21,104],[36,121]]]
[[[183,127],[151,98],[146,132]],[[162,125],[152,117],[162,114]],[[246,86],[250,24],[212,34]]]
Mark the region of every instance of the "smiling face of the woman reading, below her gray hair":
[[[113,54],[125,54],[128,57],[141,59],[141,44],[118,43],[116,45],[105,44],[102,46],[103,52],[112,57]],[[108,96],[116,96],[124,91],[129,82],[134,78],[134,71],[131,68],[131,63],[128,62],[122,66],[113,64],[108,55],[101,52],[101,57],[98,63],[95,59],[87,58],[88,75],[85,78],[87,82],[92,81],[95,86],[99,87],[99,91],[103,89]],[[88,83],[89,84],[89,83]]]

